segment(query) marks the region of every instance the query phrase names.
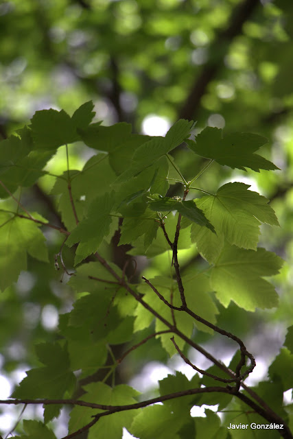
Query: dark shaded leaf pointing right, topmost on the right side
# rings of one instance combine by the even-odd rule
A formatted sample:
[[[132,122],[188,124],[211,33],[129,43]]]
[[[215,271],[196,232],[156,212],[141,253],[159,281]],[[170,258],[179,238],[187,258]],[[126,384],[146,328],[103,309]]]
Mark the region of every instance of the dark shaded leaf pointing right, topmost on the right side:
[[[243,171],[249,167],[259,172],[259,169],[279,169],[274,163],[255,154],[267,142],[265,137],[249,132],[235,132],[222,139],[222,130],[207,127],[198,134],[196,141],[189,140],[187,145],[199,156],[211,158],[222,166]]]

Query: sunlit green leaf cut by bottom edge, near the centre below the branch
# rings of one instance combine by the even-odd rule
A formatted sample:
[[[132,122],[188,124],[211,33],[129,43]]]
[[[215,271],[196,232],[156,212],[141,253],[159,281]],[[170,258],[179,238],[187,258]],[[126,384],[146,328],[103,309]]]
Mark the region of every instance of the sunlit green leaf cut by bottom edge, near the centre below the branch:
[[[178,430],[183,425],[180,417],[172,414],[166,405],[152,405],[143,408],[135,416],[130,433],[140,439],[179,439]]]

